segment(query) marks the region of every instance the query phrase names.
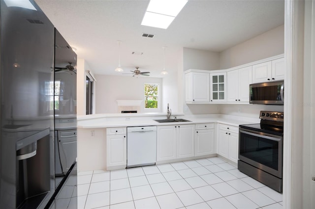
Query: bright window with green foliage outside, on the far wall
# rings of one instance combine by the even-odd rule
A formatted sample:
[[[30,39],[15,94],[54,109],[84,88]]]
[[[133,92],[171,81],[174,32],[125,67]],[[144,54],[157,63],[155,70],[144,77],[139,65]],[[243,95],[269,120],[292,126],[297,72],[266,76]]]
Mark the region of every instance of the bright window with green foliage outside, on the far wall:
[[[144,84],[144,108],[158,109],[158,84]]]

